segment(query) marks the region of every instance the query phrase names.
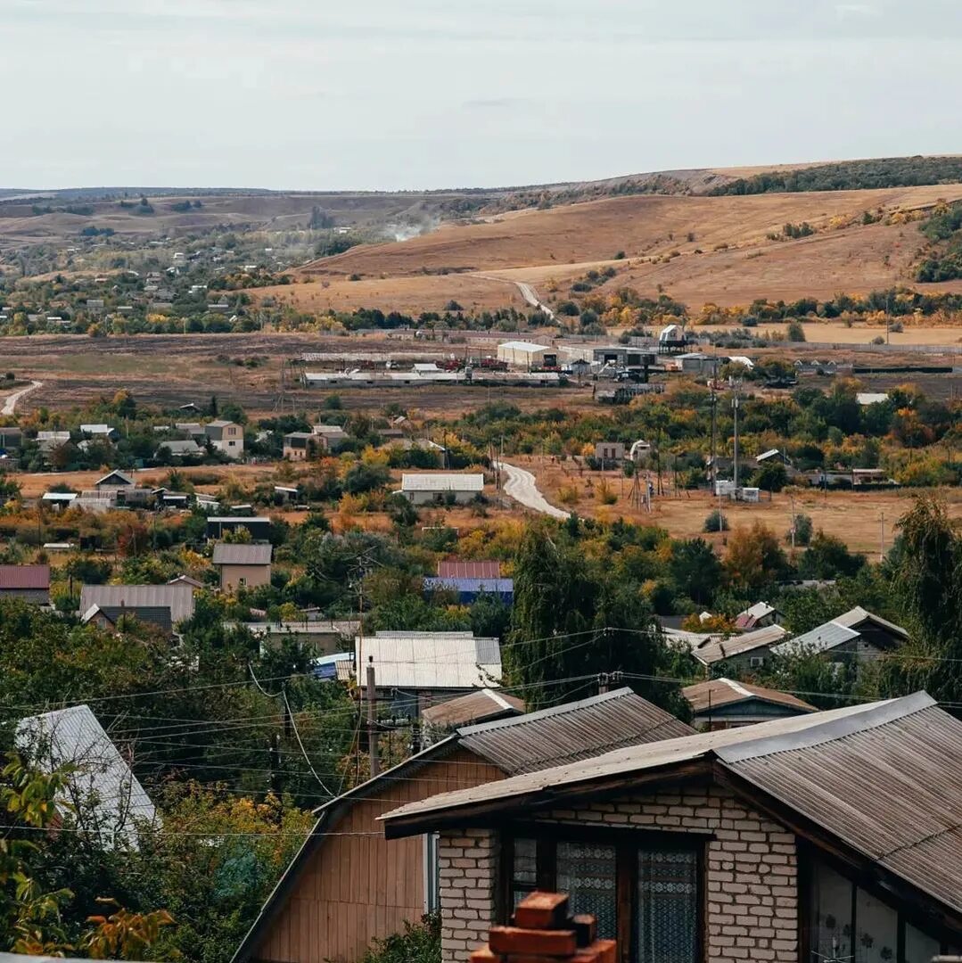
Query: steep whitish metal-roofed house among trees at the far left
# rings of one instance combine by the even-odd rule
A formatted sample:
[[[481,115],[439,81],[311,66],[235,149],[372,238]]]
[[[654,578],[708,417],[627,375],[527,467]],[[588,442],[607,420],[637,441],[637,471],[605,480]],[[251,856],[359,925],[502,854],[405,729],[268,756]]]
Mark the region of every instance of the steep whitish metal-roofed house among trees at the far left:
[[[101,846],[136,846],[138,822],[157,818],[150,797],[90,706],[20,719],[13,742],[44,772],[74,767],[58,802],[70,807],[71,819],[99,837]]]

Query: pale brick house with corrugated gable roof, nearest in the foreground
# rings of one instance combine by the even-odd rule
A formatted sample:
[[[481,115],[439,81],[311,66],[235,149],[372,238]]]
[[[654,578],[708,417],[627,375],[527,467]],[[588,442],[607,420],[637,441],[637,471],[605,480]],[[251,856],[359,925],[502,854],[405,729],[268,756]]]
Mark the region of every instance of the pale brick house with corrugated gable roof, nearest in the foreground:
[[[925,692],[630,745],[408,802],[441,959],[533,889],[642,963],[931,960],[962,946],[962,722]],[[269,959],[290,959],[278,955]]]

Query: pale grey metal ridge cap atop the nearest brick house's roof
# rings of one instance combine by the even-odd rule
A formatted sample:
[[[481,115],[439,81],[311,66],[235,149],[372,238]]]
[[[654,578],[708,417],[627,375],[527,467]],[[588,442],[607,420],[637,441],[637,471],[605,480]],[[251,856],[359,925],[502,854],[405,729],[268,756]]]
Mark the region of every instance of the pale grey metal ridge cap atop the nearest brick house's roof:
[[[818,716],[812,724],[795,732],[778,736],[760,736],[747,742],[737,742],[732,745],[722,745],[714,750],[715,756],[722,763],[739,763],[746,759],[757,759],[770,756],[777,752],[790,752],[793,749],[805,749],[825,742],[835,742],[858,732],[877,729],[879,726],[894,722],[904,716],[937,705],[928,692],[913,692],[900,698],[886,699],[882,702],[871,702],[860,706],[853,712],[842,711],[842,715],[831,718]],[[832,713],[832,710],[828,711]],[[835,713],[840,712],[835,710]],[[823,715],[823,714],[819,714]]]

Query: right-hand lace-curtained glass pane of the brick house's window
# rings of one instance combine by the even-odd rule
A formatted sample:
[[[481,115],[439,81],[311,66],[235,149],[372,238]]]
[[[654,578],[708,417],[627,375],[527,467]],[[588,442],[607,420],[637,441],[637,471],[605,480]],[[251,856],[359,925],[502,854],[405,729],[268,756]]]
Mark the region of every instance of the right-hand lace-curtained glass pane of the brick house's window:
[[[638,963],[694,963],[698,858],[690,849],[638,852]]]

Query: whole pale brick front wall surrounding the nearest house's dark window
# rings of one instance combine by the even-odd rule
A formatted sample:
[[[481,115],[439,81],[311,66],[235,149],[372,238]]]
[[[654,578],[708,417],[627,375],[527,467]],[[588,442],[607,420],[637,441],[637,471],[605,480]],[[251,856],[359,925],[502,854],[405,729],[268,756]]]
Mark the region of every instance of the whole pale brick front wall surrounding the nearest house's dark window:
[[[707,847],[708,963],[798,963],[792,833],[716,789],[631,796],[551,814],[558,822],[712,833]],[[441,837],[442,959],[467,959],[494,920],[495,838],[480,830]]]

